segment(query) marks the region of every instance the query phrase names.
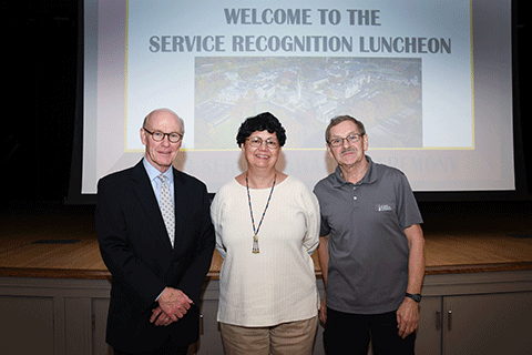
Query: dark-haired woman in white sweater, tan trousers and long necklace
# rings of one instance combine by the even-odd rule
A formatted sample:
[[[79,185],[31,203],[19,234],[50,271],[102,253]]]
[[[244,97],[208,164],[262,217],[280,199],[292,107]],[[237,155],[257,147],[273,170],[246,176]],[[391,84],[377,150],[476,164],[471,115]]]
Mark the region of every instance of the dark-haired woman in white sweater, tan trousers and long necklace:
[[[247,170],[216,193],[211,207],[224,257],[218,322],[225,354],[311,354],[318,201],[276,170],[286,134],[272,113],[247,119],[236,140]]]

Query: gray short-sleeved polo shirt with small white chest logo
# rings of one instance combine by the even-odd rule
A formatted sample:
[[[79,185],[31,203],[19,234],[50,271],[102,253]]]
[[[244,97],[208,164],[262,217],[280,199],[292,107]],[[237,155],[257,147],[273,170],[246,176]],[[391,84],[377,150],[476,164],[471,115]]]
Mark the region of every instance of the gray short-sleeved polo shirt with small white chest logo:
[[[405,174],[366,159],[369,168],[358,183],[346,182],[337,168],[314,189],[320,235],[329,235],[327,306],[352,314],[400,306],[408,283],[405,229],[423,222]]]

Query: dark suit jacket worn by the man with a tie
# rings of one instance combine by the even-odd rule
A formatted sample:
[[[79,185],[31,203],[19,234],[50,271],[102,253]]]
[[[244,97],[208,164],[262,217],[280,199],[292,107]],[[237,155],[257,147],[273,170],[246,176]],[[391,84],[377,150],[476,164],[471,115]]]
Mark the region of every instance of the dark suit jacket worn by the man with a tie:
[[[106,342],[126,353],[156,349],[171,336],[176,346],[197,341],[200,294],[214,251],[214,229],[205,184],[173,169],[175,243],[142,161],[98,184],[96,234],[112,274]],[[155,300],[170,286],[194,305],[168,326],[150,323]]]

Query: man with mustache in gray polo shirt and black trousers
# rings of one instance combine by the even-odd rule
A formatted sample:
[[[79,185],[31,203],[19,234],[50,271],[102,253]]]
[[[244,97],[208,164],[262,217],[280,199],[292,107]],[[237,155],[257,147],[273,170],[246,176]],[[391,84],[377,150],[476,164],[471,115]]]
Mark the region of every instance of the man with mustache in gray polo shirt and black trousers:
[[[326,297],[320,318],[328,355],[413,354],[424,275],[422,223],[407,178],[365,154],[364,124],[335,118],[327,151],[338,163],[319,181],[318,256]]]

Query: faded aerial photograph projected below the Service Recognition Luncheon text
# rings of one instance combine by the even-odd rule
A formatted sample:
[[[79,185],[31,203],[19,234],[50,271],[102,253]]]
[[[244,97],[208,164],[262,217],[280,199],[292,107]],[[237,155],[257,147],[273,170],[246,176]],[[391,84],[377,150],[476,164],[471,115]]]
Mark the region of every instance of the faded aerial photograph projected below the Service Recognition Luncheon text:
[[[194,148],[237,149],[242,122],[269,111],[288,149],[323,149],[331,118],[361,120],[375,148],[422,146],[419,58],[196,57]]]

